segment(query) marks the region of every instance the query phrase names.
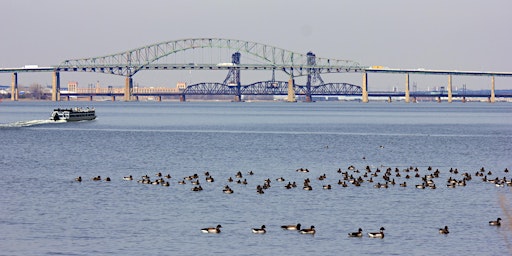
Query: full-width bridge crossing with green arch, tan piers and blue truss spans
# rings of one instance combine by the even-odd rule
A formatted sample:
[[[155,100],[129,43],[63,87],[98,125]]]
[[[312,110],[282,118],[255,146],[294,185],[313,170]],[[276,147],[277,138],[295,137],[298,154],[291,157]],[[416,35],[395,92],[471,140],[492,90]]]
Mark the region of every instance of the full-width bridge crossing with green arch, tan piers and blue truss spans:
[[[204,57],[204,51],[209,50]],[[218,50],[217,53],[215,50]],[[222,53],[225,50],[225,53]],[[187,58],[185,52],[203,56],[196,61],[195,57]],[[229,53],[231,56],[230,60]],[[242,54],[249,56],[249,62],[242,62]],[[215,55],[215,56],[214,56]],[[226,57],[228,56],[228,57]],[[178,90],[152,90],[134,88],[133,77],[146,70],[224,70],[228,74],[223,82],[204,82],[187,85]],[[271,71],[272,78],[267,81],[242,85],[241,71]],[[425,70],[425,69],[391,69],[382,66],[364,66],[351,60],[340,60],[316,57],[313,52],[296,53],[282,48],[236,39],[222,38],[192,38],[161,42],[143,46],[111,55],[70,59],[49,67],[27,65],[22,68],[0,68],[0,73],[12,73],[11,99],[18,99],[18,73],[23,72],[52,72],[52,100],[61,100],[61,96],[123,96],[125,101],[136,99],[138,96],[179,95],[181,100],[186,95],[233,95],[235,101],[240,101],[242,95],[287,95],[287,101],[295,101],[296,95],[304,95],[306,101],[311,101],[313,95],[352,95],[360,96],[362,102],[368,102],[369,96],[398,95],[397,93],[377,93],[368,91],[369,73],[405,74],[404,93],[400,94],[406,102],[411,100],[409,90],[409,74],[447,75],[448,86],[446,97],[448,102],[453,100],[452,76],[487,76],[491,77],[491,93],[487,97],[495,101],[495,77],[512,77],[512,72],[489,71],[455,71],[455,70]],[[60,89],[60,72],[96,72],[125,77],[122,92],[114,89],[107,91],[64,92]],[[275,72],[283,72],[287,81],[277,81]],[[347,83],[326,83],[321,74],[327,73],[362,73],[361,86]],[[295,84],[296,77],[305,77],[306,84]],[[416,94],[413,97],[425,95]],[[428,96],[428,95],[427,95]],[[431,96],[431,95],[430,95]],[[439,95],[441,97],[444,95]]]

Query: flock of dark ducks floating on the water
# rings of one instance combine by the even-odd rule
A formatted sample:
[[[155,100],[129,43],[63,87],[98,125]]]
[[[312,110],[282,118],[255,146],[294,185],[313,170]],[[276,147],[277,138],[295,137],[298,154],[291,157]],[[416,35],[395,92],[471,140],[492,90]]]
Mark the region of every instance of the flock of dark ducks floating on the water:
[[[439,169],[433,169],[432,167],[428,167],[426,169],[427,173],[421,175],[420,170],[417,167],[408,167],[405,169],[399,169],[399,168],[386,168],[384,170],[381,170],[380,168],[375,168],[375,170],[372,170],[370,166],[366,166],[363,171],[358,170],[353,165],[350,165],[346,171],[343,171],[341,168],[337,170],[337,174],[335,174],[335,179],[338,179],[336,182],[337,185],[340,187],[361,187],[365,183],[372,183],[373,188],[377,189],[387,189],[389,187],[393,187],[396,184],[398,184],[398,187],[408,187],[410,186],[409,183],[413,183],[411,187],[417,188],[417,189],[436,189],[438,187],[438,183],[436,183],[436,179],[440,178],[441,171]],[[310,171],[307,168],[299,168],[296,170],[297,173],[309,173]],[[503,173],[506,175],[508,174],[509,170],[506,168]],[[447,188],[456,188],[459,186],[466,186],[469,181],[471,181],[473,178],[473,174],[469,172],[461,172],[458,169],[450,168],[449,170],[449,177],[446,180],[446,187]],[[243,186],[246,186],[249,184],[248,177],[251,177],[254,175],[253,171],[249,171],[246,174],[243,174],[242,172],[238,171],[234,176],[230,176],[225,180],[227,184],[225,184],[222,187],[222,192],[225,194],[233,194],[235,190],[229,186],[229,184],[240,184]],[[493,172],[487,171],[485,168],[481,168],[480,170],[476,171],[474,173],[474,176],[481,177],[481,180],[488,184],[493,184],[497,187],[503,187],[503,186],[512,186],[512,179],[507,179],[506,177],[500,178],[498,176],[492,177]],[[137,180],[138,183],[141,184],[152,184],[152,185],[161,185],[161,186],[171,186],[171,183],[175,182],[179,185],[185,185],[185,184],[191,184],[192,191],[202,191],[202,183],[200,180],[200,175],[192,174],[189,176],[185,176],[182,179],[178,179],[177,181],[173,181],[173,177],[170,174],[163,175],[161,172],[158,172],[155,174],[156,178],[151,179],[150,176],[147,174],[144,176],[141,176],[140,179]],[[233,178],[234,177],[234,178]],[[379,179],[380,178],[380,179]],[[324,173],[320,176],[317,176],[316,178],[319,182],[325,182],[322,184],[322,189],[324,190],[330,190],[334,186],[327,182],[327,175]],[[395,181],[400,180],[400,181]],[[91,180],[93,181],[111,181],[110,177],[106,177],[102,179],[100,176],[95,176]],[[126,181],[132,181],[134,180],[132,175],[123,177],[123,180]],[[275,182],[273,182],[275,180]],[[82,177],[75,178],[75,181],[81,182]],[[206,171],[204,172],[204,181],[206,183],[214,183],[216,179],[212,177],[212,175]],[[414,182],[415,181],[415,182]],[[409,183],[408,183],[409,182]],[[293,189],[298,187],[296,181],[287,181],[287,179],[283,177],[278,177],[275,179],[266,178],[263,180],[262,184],[256,185],[256,192],[258,194],[264,194],[267,189],[274,186],[274,183],[280,183],[284,185],[280,185],[281,187],[285,189]],[[313,190],[313,185],[311,183],[310,178],[305,178],[303,180],[302,185],[303,190]],[[501,218],[497,218],[497,220],[489,221],[489,225],[491,226],[500,226],[501,225]],[[220,233],[222,226],[219,224],[215,227],[207,227],[201,229],[201,232],[203,233]],[[301,224],[296,225],[283,225],[281,226],[284,230],[294,230],[297,231],[300,234],[315,234],[315,226],[311,226],[309,228],[301,228]],[[380,231],[378,232],[369,232],[368,237],[371,238],[384,238],[384,227],[380,228]],[[363,230],[359,228],[356,232],[348,233],[349,237],[363,237]],[[255,234],[265,234],[266,226],[262,225],[259,228],[252,228],[252,233]],[[449,234],[448,226],[445,226],[444,228],[439,229],[440,234]]]

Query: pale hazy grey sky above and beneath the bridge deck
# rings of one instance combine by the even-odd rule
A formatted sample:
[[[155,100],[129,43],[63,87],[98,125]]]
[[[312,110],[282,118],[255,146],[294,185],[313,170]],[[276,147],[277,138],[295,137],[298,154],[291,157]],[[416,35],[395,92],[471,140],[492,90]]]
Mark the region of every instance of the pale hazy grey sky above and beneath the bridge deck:
[[[312,51],[317,57],[365,66],[512,71],[509,0],[1,0],[0,6],[2,68],[52,66],[158,42],[215,37]],[[179,81],[221,82],[226,75],[143,71],[134,83],[173,87]],[[252,76],[268,74],[242,78]],[[361,74],[322,77],[358,85],[362,80]],[[26,86],[46,85],[52,78],[50,73],[31,73],[18,75],[18,80]],[[418,89],[431,89],[448,79],[411,75],[410,80]],[[124,78],[115,75],[61,73],[61,84],[68,81],[124,85]],[[10,82],[10,74],[0,74],[0,85]],[[391,90],[402,88],[405,77],[370,74],[368,83],[369,90]],[[488,77],[455,77],[453,84],[489,89],[491,82]],[[496,78],[496,88],[512,89],[512,79]]]

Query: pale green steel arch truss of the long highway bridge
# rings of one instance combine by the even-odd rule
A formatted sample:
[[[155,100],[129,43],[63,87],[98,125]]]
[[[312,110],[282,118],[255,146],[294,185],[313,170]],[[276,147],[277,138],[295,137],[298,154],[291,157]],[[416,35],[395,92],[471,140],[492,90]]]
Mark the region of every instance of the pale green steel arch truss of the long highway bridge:
[[[226,48],[246,53],[260,61],[258,64],[219,66],[218,63],[158,63],[164,57],[203,48]],[[309,54],[309,53],[308,53]],[[308,54],[236,39],[192,38],[156,43],[111,55],[63,61],[57,71],[100,72],[131,77],[141,70],[282,70],[292,76],[319,73],[361,72],[368,68],[351,60],[315,58]],[[309,58],[309,59],[308,59]]]

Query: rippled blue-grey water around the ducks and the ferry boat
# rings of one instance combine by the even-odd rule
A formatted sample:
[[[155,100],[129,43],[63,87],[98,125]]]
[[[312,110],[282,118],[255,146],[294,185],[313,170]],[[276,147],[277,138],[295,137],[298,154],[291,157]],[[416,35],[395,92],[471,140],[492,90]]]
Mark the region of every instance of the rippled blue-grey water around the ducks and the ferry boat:
[[[87,104],[97,110],[94,121],[46,121],[54,107]],[[510,254],[510,220],[500,206],[501,198],[512,210],[510,187],[475,172],[484,167],[489,178],[512,178],[504,173],[512,169],[511,125],[505,103],[4,101],[0,254]],[[393,175],[397,185],[388,189],[373,187],[382,173],[374,183],[343,188],[337,170],[349,165],[357,175],[370,166],[372,173],[398,168],[402,176]],[[415,188],[419,178],[405,179],[410,166],[421,175],[431,173],[428,166],[439,169],[437,189]],[[247,185],[227,182],[238,171]],[[157,172],[172,175],[169,187],[136,181]],[[463,172],[473,177],[467,186],[446,187]],[[194,173],[201,192],[178,184]],[[98,175],[112,181],[91,180]],[[122,179],[128,175],[135,180]],[[257,194],[267,178],[271,187]],[[305,178],[312,191],[302,189]],[[298,187],[285,189],[288,181]],[[403,181],[408,187],[398,186]],[[227,184],[233,194],[222,193]],[[332,189],[323,190],[326,184]],[[497,217],[504,224],[488,226]],[[317,233],[279,228],[296,223]],[[220,234],[200,232],[217,224]],[[263,224],[266,234],[251,233]],[[450,234],[438,234],[445,225]],[[367,237],[381,226],[384,239]],[[363,238],[347,236],[359,227]]]

